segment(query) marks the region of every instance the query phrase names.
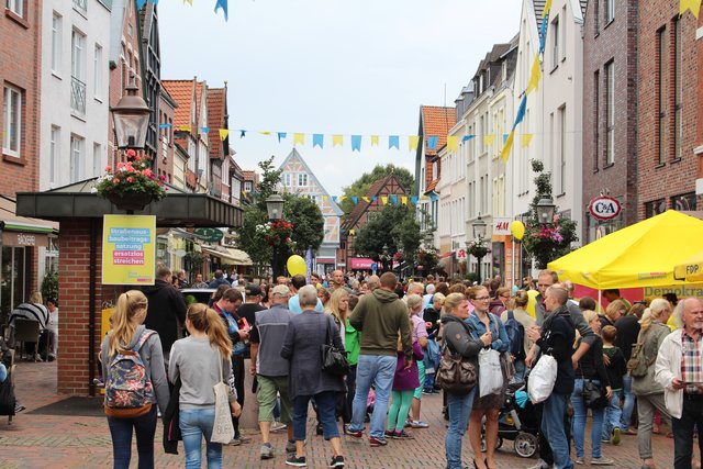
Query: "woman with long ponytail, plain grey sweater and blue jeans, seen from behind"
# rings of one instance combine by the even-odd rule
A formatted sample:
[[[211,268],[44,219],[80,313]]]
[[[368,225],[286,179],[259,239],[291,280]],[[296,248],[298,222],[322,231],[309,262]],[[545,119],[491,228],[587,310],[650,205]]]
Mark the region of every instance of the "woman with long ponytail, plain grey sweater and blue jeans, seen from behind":
[[[215,422],[213,387],[232,378],[232,340],[220,315],[202,303],[194,303],[186,313],[190,334],[171,347],[168,376],[172,383],[180,379],[178,395],[179,426],[186,448],[186,468],[200,468],[202,437],[205,437],[208,468],[222,467],[222,445],[212,443]],[[238,417],[242,407],[234,386],[230,386],[230,407]]]

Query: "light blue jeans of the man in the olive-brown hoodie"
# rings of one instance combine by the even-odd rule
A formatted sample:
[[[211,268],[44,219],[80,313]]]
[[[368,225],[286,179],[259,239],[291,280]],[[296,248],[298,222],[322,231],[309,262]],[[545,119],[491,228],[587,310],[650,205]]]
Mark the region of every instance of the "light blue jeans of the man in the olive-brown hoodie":
[[[393,388],[393,377],[395,376],[397,356],[384,355],[359,355],[359,362],[356,367],[356,393],[354,394],[354,405],[352,409],[352,432],[364,431],[364,416],[366,415],[366,400],[369,397],[371,384],[376,387],[376,404],[369,425],[369,435],[376,438],[383,438],[383,423],[388,412],[388,402]]]

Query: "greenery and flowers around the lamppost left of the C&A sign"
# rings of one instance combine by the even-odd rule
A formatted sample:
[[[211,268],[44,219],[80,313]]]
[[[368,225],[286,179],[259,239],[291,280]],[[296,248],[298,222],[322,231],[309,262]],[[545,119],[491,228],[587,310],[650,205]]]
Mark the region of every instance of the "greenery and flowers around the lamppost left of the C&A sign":
[[[529,204],[529,220],[525,225],[523,247],[535,259],[535,267],[546,269],[551,260],[566,256],[571,252],[571,243],[579,241],[576,234],[576,222],[566,216],[555,215],[551,226],[543,226],[537,217],[537,202],[542,198],[551,199],[551,174],[544,172],[544,164],[537,159],[532,161],[532,170],[537,176],[537,192]],[[558,213],[555,208],[555,213]]]

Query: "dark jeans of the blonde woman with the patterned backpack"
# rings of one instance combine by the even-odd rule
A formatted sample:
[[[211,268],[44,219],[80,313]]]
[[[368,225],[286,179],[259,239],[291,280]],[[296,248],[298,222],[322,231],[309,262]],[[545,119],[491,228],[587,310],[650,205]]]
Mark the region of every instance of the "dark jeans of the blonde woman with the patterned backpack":
[[[152,410],[135,418],[108,417],[112,436],[112,456],[114,469],[127,469],[132,458],[132,431],[136,433],[136,450],[140,455],[140,469],[154,467],[154,435],[156,434],[156,404]]]

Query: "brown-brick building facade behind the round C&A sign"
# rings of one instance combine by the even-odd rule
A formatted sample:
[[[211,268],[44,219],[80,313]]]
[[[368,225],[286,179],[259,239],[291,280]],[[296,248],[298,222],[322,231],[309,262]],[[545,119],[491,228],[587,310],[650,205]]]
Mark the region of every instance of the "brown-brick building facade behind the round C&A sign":
[[[637,222],[637,0],[592,0],[583,25],[583,204],[617,199],[620,216],[583,211],[581,239]]]

